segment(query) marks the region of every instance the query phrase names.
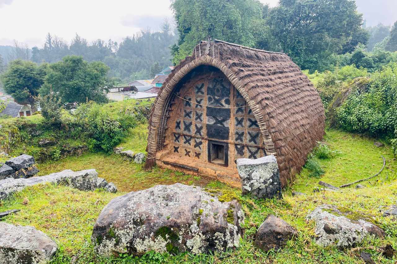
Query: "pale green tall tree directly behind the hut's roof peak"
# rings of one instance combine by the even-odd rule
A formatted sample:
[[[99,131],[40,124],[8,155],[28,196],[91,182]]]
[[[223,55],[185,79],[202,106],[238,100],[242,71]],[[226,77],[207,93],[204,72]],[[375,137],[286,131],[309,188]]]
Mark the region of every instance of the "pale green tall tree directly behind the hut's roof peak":
[[[245,46],[256,46],[252,32],[263,24],[264,7],[254,0],[172,0],[177,21],[178,45],[173,46],[173,63],[177,64],[200,40],[208,36]]]

